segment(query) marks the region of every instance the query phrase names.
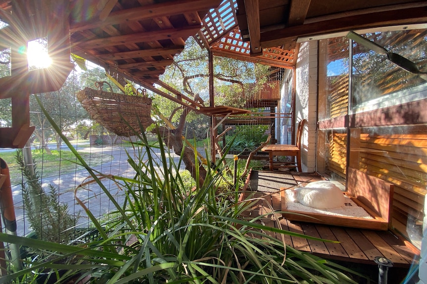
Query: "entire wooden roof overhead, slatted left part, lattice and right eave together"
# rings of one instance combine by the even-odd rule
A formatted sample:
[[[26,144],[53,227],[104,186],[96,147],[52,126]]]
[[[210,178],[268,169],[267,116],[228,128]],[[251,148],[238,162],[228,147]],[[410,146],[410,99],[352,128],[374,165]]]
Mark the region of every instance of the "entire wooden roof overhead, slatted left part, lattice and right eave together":
[[[427,18],[421,0],[33,0],[21,19],[16,2],[28,3],[0,0],[0,20],[18,28],[0,25],[3,49],[19,35],[22,15],[36,18],[49,2],[69,8],[72,53],[149,84],[191,36],[214,55],[292,67],[299,41]]]

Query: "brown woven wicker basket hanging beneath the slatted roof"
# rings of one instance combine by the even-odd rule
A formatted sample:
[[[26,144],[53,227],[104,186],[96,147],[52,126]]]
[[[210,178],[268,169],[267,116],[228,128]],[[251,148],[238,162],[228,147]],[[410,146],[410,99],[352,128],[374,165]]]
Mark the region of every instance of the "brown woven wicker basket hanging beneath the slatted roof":
[[[99,84],[100,89],[102,84]],[[77,93],[77,99],[93,120],[119,136],[135,135],[135,132],[140,133],[153,123],[151,98],[147,96],[131,96],[86,87]]]

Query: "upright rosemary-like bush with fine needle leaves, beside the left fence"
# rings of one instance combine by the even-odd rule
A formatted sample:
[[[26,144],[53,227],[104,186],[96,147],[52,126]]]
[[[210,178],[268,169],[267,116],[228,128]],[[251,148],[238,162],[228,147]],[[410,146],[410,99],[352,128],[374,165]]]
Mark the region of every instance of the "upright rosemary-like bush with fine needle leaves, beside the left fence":
[[[25,178],[21,183],[25,215],[36,236],[43,241],[69,243],[73,239],[73,228],[79,219],[68,212],[68,204],[59,203],[58,190],[52,184],[48,190],[42,186],[36,168],[25,165],[22,150],[16,151],[16,162]]]

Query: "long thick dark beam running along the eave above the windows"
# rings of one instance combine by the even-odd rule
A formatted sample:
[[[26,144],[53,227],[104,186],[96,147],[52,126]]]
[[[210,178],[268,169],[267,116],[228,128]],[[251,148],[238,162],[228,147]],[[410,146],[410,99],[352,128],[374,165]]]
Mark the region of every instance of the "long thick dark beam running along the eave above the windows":
[[[263,47],[284,44],[284,49],[293,49],[296,46],[298,37],[385,26],[422,24],[426,23],[426,17],[426,7],[373,12],[267,31],[261,34],[260,41]]]

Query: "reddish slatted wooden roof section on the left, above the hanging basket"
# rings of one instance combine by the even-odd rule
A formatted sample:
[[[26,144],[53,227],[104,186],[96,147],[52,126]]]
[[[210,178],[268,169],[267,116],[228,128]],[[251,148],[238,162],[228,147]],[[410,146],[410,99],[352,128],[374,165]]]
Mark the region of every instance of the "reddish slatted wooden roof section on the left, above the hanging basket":
[[[21,1],[22,0],[17,0]],[[0,19],[10,27],[22,27],[18,14],[40,13],[44,0],[18,13],[14,1],[0,0]],[[137,81],[157,81],[188,37],[201,28],[202,19],[221,0],[58,0],[69,6],[71,53]],[[54,15],[53,15],[54,16]],[[34,17],[36,18],[36,17]],[[37,19],[36,19],[37,23]],[[52,29],[52,27],[51,27]],[[0,30],[0,45],[10,45],[8,29]],[[9,28],[13,30],[13,28]],[[16,33],[19,33],[15,31]]]

